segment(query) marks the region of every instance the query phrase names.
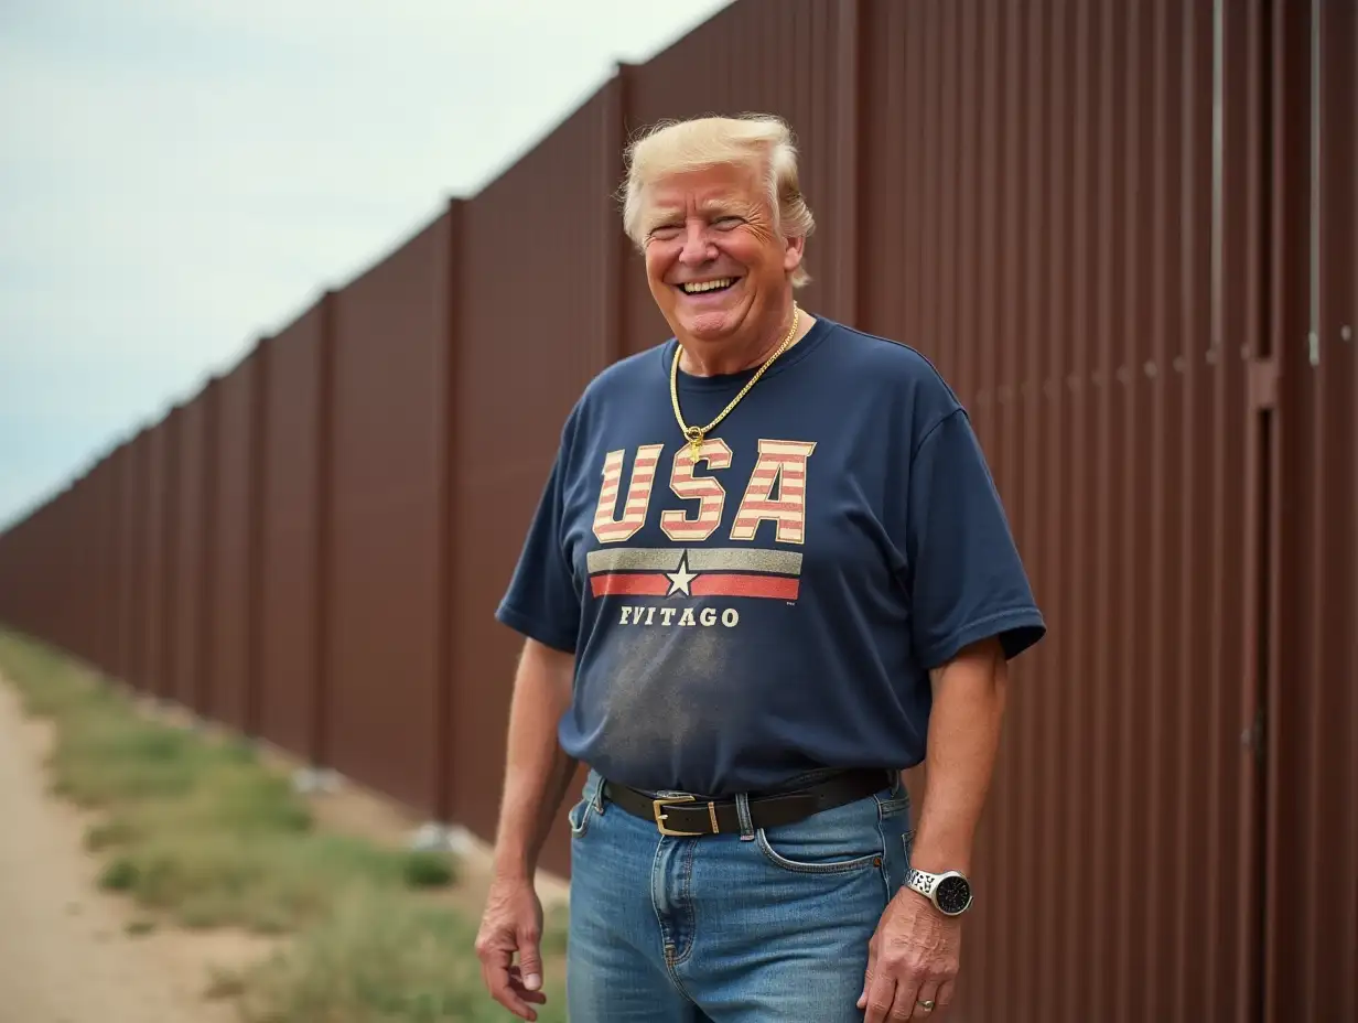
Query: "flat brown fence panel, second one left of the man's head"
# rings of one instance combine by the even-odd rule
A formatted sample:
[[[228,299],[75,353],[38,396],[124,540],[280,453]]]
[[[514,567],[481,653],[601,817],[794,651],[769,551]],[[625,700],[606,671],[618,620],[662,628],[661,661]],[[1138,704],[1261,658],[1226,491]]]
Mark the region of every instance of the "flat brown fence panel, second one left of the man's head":
[[[440,784],[448,308],[443,216],[338,292],[334,314],[333,764],[421,810]]]

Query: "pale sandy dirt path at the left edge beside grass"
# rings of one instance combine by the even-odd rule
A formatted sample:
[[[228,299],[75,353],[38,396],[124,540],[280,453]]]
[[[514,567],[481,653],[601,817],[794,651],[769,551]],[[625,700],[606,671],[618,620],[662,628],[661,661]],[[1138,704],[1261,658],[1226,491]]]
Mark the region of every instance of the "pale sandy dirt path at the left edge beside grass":
[[[0,1023],[236,1023],[208,1003],[212,963],[258,948],[240,935],[156,931],[95,886],[87,818],[48,795],[46,723],[0,678]]]

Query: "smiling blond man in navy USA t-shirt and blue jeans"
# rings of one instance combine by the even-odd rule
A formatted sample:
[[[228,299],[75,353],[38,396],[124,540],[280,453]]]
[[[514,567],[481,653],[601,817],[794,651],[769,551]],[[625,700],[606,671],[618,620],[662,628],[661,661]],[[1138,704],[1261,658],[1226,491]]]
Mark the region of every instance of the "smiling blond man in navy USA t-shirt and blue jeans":
[[[486,985],[535,1019],[532,874],[583,762],[573,1020],[941,1019],[1005,664],[1044,633],[1004,509],[929,361],[797,306],[813,220],[781,121],[627,158],[674,338],[581,395],[497,614],[527,639]]]

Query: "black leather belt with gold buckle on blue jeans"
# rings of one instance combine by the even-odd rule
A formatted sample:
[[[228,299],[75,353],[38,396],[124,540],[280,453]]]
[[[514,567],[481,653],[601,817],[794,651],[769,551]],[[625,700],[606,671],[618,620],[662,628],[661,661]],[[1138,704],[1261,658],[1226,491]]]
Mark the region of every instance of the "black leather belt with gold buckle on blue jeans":
[[[750,823],[755,829],[796,823],[822,810],[832,810],[889,788],[895,777],[895,772],[881,768],[861,768],[834,774],[804,788],[751,795]],[[691,795],[655,799],[646,792],[612,781],[604,783],[603,796],[633,816],[653,821],[660,834],[683,837],[740,834],[740,815],[735,799],[701,800]]]

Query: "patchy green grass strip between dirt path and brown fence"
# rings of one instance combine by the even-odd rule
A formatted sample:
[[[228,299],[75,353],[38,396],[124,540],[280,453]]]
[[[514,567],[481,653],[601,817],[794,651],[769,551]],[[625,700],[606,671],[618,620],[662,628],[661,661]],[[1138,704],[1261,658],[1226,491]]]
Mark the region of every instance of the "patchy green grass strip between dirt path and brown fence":
[[[319,829],[249,744],[149,720],[41,644],[0,630],[0,668],[29,713],[56,724],[53,789],[98,811],[86,845],[102,859],[102,887],[179,927],[292,937],[215,980],[242,1020],[512,1019],[482,988],[475,921],[424,897],[456,883],[452,857]],[[134,932],[153,927],[141,920]],[[543,952],[564,947],[565,921],[549,917]],[[549,967],[540,1023],[566,1018],[561,971]]]

